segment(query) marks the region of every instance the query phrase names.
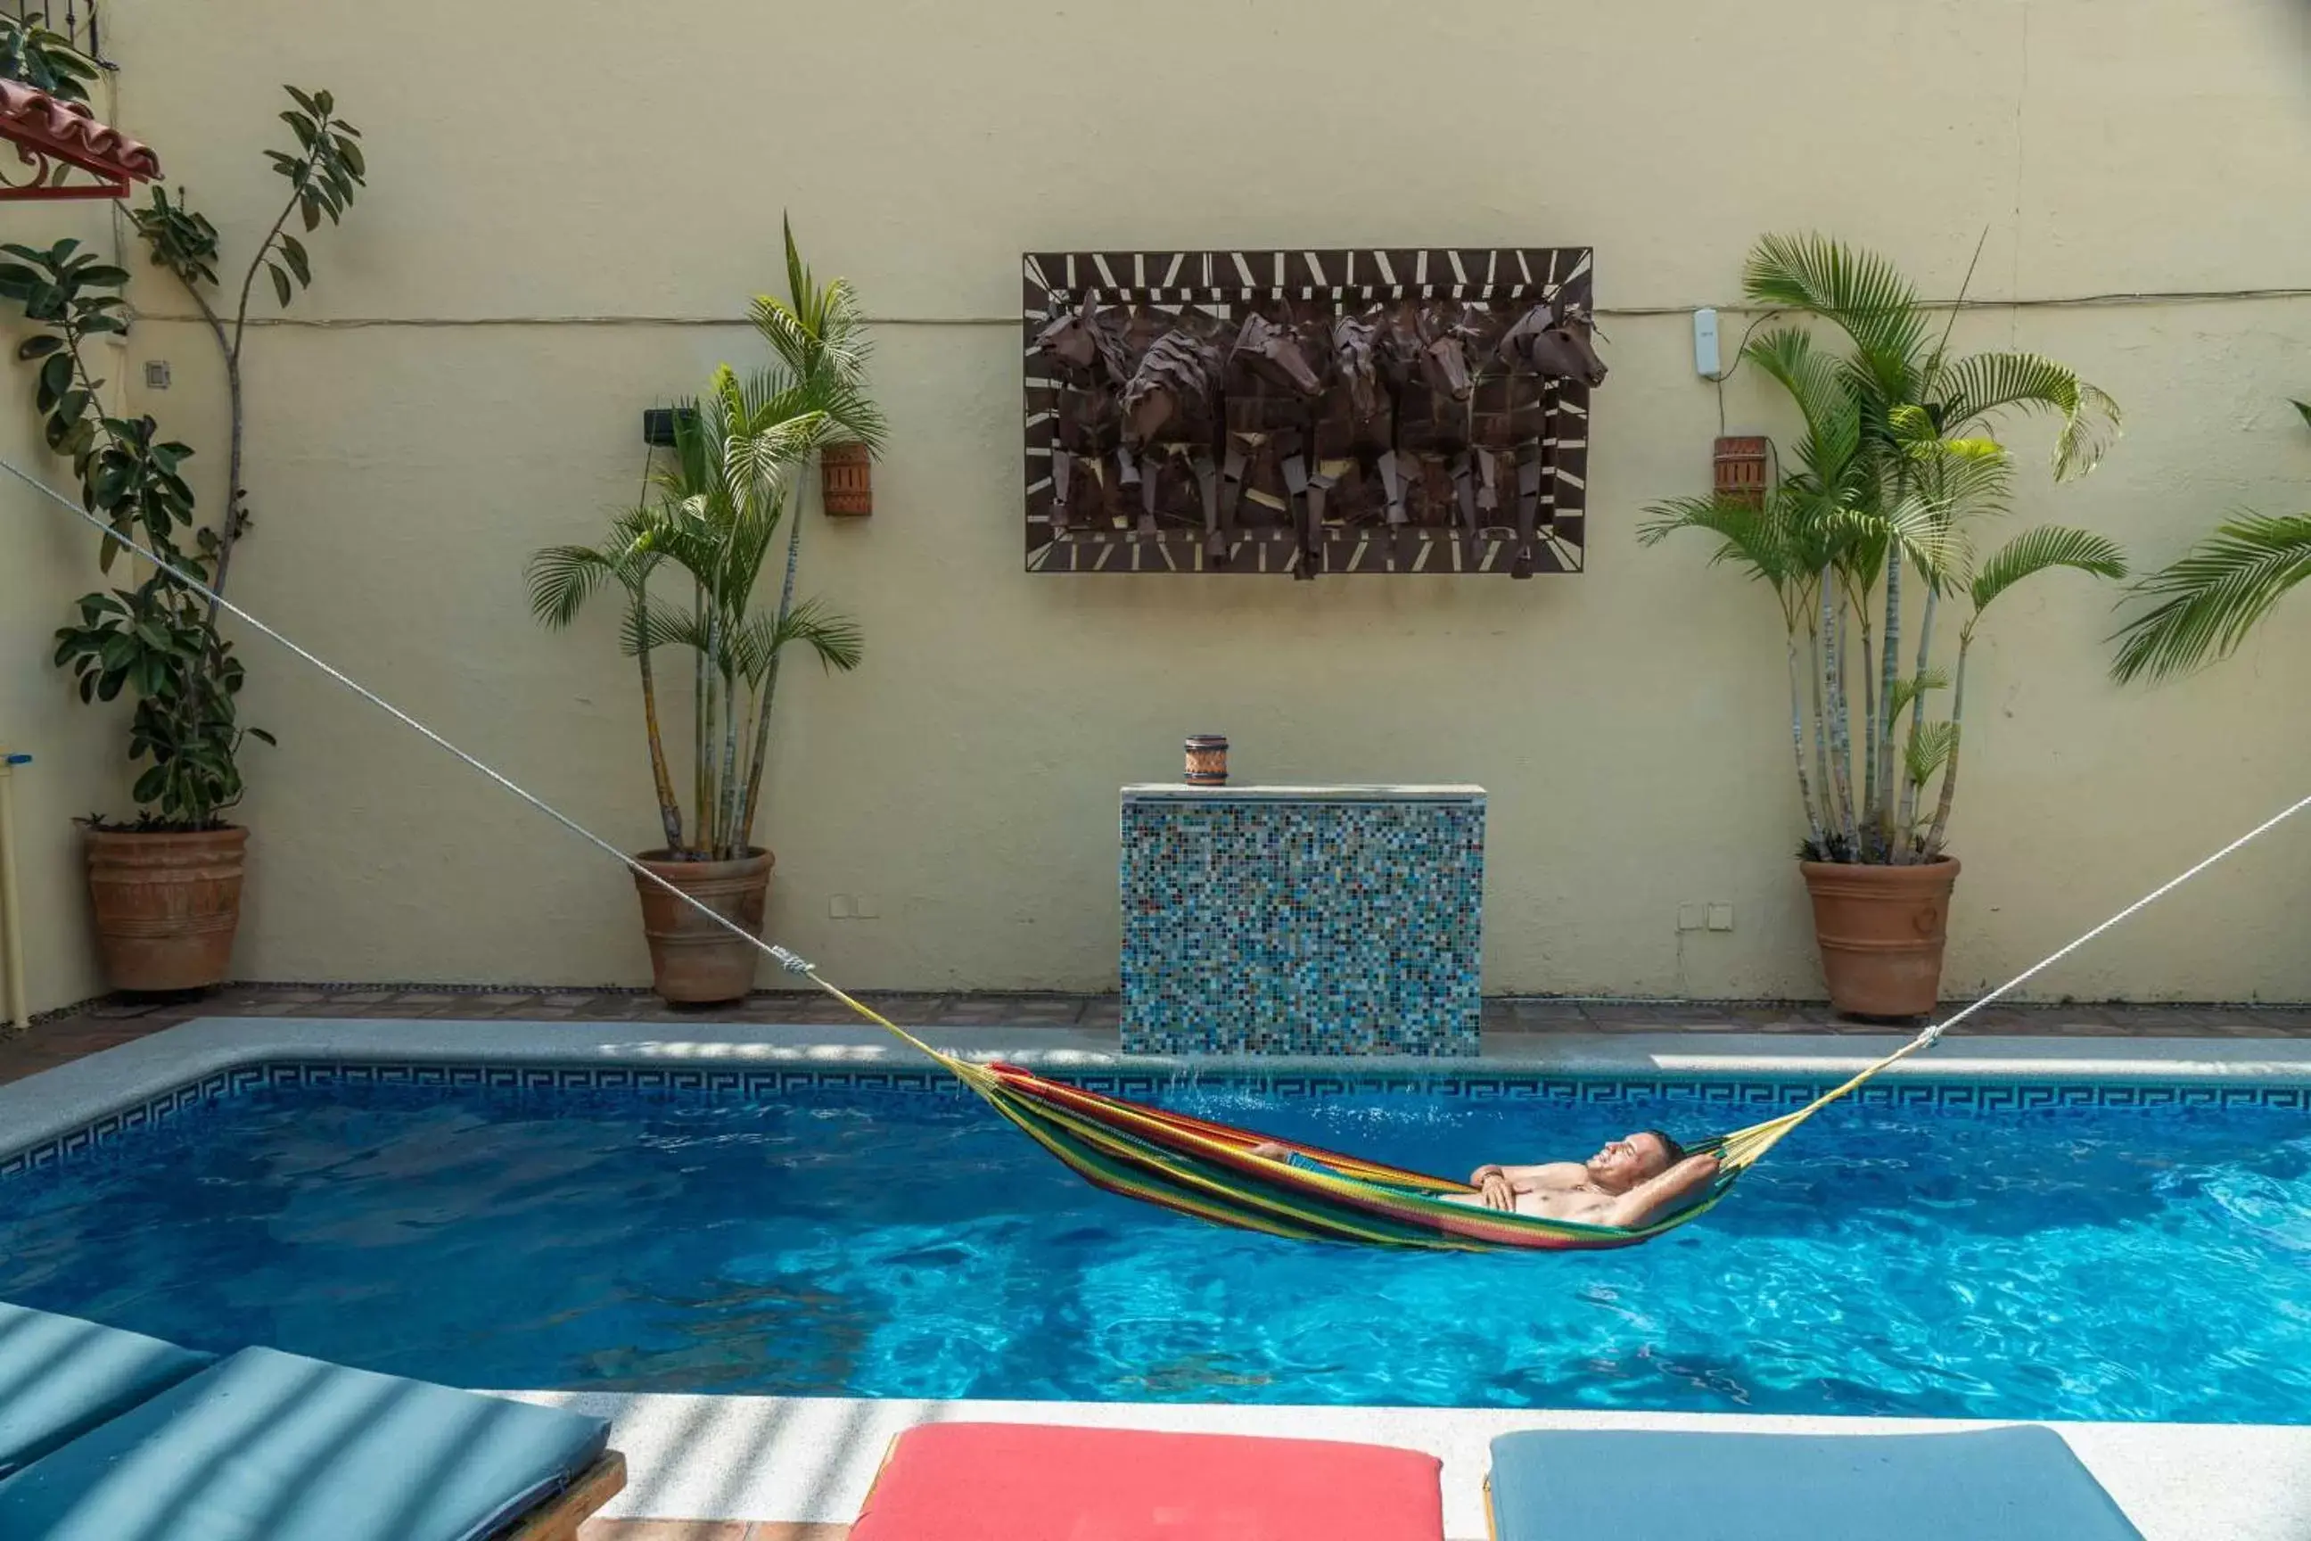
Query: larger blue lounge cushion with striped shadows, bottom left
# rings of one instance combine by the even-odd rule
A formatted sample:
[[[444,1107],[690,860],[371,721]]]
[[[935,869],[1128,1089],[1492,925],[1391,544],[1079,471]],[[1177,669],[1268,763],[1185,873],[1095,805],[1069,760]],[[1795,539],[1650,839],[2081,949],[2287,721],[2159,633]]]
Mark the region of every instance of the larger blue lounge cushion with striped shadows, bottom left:
[[[601,1419],[243,1349],[0,1481],[0,1536],[481,1541],[608,1442]]]

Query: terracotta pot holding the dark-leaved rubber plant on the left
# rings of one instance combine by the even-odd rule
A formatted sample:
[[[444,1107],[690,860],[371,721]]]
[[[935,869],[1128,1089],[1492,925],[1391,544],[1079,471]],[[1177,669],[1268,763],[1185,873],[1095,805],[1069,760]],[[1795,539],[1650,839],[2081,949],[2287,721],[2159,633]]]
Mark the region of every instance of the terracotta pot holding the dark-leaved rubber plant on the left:
[[[247,843],[247,829],[88,829],[88,899],[113,989],[206,989],[231,977]]]

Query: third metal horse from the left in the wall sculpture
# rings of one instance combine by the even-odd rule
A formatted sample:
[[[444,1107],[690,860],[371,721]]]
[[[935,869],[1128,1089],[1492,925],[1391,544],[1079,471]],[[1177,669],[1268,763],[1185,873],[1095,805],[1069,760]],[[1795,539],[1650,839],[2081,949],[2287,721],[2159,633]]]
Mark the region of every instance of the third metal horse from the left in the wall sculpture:
[[[1236,342],[1227,349],[1220,384],[1227,437],[1220,467],[1220,524],[1206,529],[1213,561],[1227,561],[1243,497],[1250,492],[1248,471],[1266,457],[1283,481],[1285,511],[1299,550],[1292,575],[1315,578],[1315,564],[1322,561],[1322,524],[1313,515],[1308,460],[1315,439],[1313,411],[1324,393],[1320,358],[1308,328],[1290,310],[1280,321],[1257,310],[1243,317]]]

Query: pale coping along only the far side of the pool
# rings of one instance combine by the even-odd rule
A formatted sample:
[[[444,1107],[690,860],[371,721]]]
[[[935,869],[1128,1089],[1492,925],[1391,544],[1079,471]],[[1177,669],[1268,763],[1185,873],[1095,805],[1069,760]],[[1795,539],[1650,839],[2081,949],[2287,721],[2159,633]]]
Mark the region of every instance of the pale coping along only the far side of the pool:
[[[1114,1030],[948,1026],[917,1033],[943,1054],[1005,1058],[1054,1074],[1308,1074],[1391,1079],[1807,1081],[1853,1074],[1904,1035],[1555,1033],[1488,1056],[1135,1056]],[[0,1162],[67,1141],[171,1093],[257,1065],[448,1063],[709,1072],[927,1070],[871,1026],[460,1021],[441,1017],[196,1017],[0,1086]],[[1886,1072],[1888,1084],[2085,1084],[2311,1090],[2311,1040],[1953,1037]],[[185,1097],[196,1100],[196,1097]]]

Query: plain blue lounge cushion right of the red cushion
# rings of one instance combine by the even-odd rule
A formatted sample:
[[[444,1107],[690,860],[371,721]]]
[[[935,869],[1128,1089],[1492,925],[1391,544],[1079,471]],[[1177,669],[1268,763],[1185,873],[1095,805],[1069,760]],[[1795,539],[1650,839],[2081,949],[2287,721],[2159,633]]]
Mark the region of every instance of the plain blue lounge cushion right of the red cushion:
[[[2050,1428],[1530,1430],[1493,1442],[1498,1541],[2142,1541]]]

